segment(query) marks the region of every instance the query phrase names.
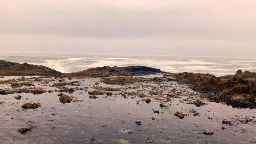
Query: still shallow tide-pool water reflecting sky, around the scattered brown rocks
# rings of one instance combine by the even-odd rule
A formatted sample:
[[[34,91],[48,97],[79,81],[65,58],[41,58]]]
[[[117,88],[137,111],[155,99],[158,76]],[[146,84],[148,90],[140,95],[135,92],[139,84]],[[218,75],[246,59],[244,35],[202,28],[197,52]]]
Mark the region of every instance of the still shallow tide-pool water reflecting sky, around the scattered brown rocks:
[[[150,77],[150,76],[146,76]],[[237,119],[239,117],[256,116],[256,109],[232,108],[221,103],[208,102],[208,105],[196,107],[192,104],[179,102],[182,99],[196,99],[197,96],[182,96],[172,99],[166,104],[168,108],[160,108],[160,100],[151,98],[147,104],[142,98],[128,96],[124,99],[119,92],[113,92],[112,96],[100,95],[98,99],[89,99],[86,90],[93,90],[94,83],[99,78],[80,79],[82,83],[78,87],[86,87],[85,90],[77,90],[69,96],[82,102],[62,104],[57,94],[59,92],[33,94],[9,94],[1,95],[0,101],[0,143],[3,144],[145,144],[148,140],[154,140],[155,144],[249,144],[256,143],[256,123],[242,124],[235,121],[232,125],[223,125],[223,118]],[[69,81],[69,80],[66,80]],[[73,79],[72,81],[77,81]],[[37,86],[46,90],[56,88],[37,83]],[[128,86],[117,86],[126,91],[134,91],[128,88],[136,86],[136,90],[143,90],[148,94],[153,90],[151,86],[159,86],[158,83],[136,83]],[[104,83],[103,87],[111,87]],[[160,86],[168,85],[165,93],[175,88],[183,94],[192,92],[187,86],[175,81],[166,82]],[[3,87],[9,87],[1,86]],[[88,87],[88,88],[87,88]],[[160,87],[161,88],[161,87]],[[14,96],[21,95],[21,100]],[[150,97],[154,97],[150,96]],[[157,98],[157,97],[156,97]],[[158,98],[157,98],[158,99]],[[37,109],[23,110],[21,105],[25,102],[39,102],[42,104]],[[195,109],[200,116],[194,117],[189,109]],[[156,114],[152,110],[159,110]],[[181,111],[187,116],[183,119],[174,116],[175,111]],[[56,114],[55,116],[51,114]],[[13,117],[14,119],[11,119]],[[152,120],[151,117],[155,117]],[[212,118],[209,119],[208,117]],[[141,121],[137,126],[135,121]],[[32,126],[32,131],[27,134],[19,134],[17,130],[22,127]],[[227,127],[222,130],[221,126]],[[128,134],[128,131],[132,134]],[[204,130],[210,130],[214,135],[203,135]]]

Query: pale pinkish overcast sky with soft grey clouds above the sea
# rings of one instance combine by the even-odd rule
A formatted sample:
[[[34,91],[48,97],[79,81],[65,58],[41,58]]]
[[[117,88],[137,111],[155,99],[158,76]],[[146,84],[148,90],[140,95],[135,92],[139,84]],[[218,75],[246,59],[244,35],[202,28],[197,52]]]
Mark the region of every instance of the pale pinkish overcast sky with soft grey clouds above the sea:
[[[0,53],[255,57],[256,0],[1,0]]]

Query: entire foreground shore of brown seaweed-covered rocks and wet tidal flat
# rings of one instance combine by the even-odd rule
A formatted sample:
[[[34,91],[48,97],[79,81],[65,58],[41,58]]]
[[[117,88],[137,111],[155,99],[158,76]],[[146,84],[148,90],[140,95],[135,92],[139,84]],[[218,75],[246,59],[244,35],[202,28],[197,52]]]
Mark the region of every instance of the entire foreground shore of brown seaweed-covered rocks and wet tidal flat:
[[[6,144],[23,137],[46,144],[256,143],[255,72],[216,77],[104,66],[60,73],[2,65],[2,73],[27,66],[9,73],[20,76],[0,78],[0,141]],[[46,73],[36,76],[41,68]]]

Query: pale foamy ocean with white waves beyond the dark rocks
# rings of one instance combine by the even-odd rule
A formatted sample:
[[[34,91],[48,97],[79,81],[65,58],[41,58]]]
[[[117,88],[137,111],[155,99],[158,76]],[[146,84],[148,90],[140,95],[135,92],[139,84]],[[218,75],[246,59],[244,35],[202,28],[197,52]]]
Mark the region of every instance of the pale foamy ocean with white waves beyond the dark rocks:
[[[235,74],[238,69],[256,72],[256,59],[249,58],[0,54],[0,60],[44,65],[64,73],[78,72],[100,66],[136,65],[159,68],[165,72],[210,73],[216,76]]]

